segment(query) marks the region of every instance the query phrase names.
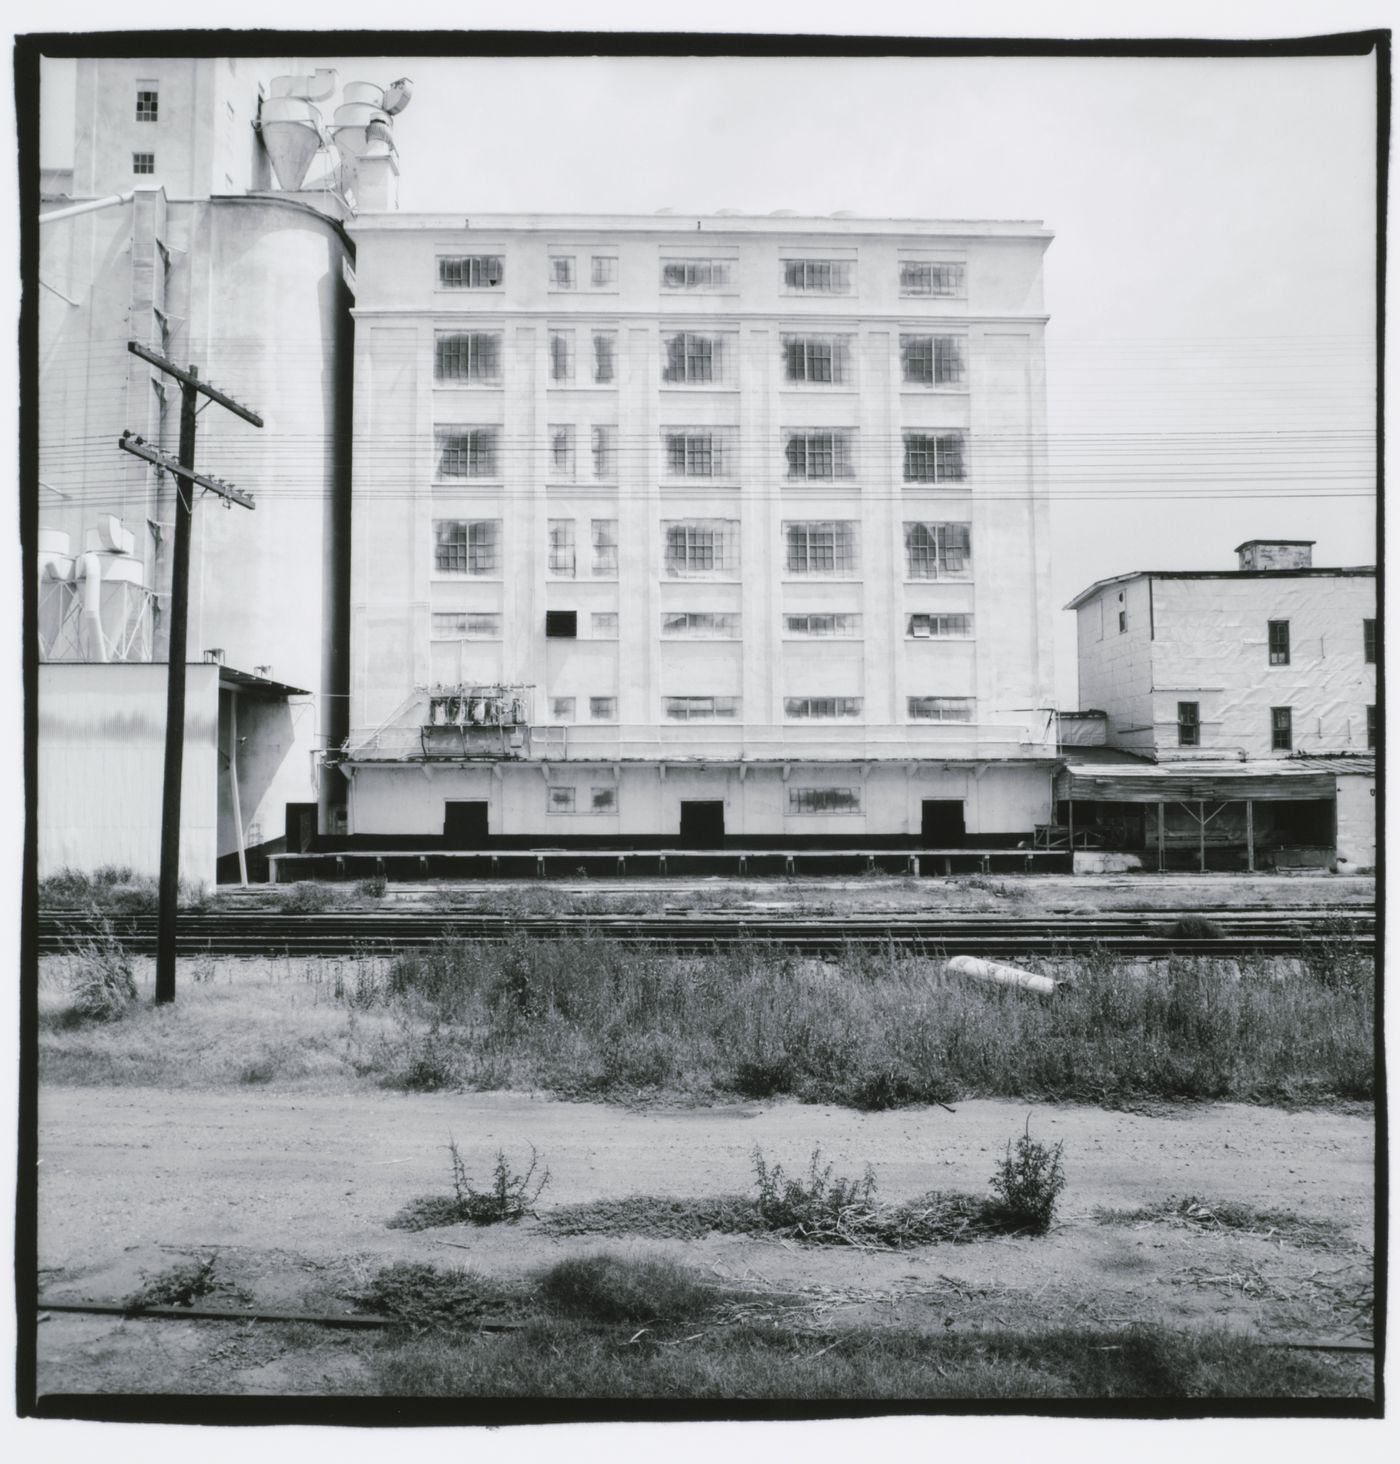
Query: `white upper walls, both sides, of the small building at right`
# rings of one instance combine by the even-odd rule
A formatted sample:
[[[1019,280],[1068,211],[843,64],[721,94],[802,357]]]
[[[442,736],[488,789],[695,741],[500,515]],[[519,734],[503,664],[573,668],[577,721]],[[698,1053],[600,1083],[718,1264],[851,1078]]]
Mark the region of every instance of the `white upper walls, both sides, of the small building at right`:
[[[1133,574],[1090,587],[1072,608],[1079,704],[1109,714],[1113,747],[1166,761],[1375,745],[1371,568]],[[1270,622],[1286,624],[1286,651],[1277,630],[1271,649]],[[1194,744],[1180,731],[1183,703],[1196,709]],[[1276,741],[1274,709],[1287,709],[1287,741],[1283,728]]]

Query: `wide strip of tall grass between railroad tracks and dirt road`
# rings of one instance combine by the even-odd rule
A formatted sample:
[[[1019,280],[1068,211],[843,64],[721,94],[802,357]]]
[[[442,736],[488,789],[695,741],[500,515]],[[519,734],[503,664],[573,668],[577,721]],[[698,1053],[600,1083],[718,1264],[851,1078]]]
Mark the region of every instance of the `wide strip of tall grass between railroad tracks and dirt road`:
[[[1069,968],[1069,969],[1066,969]],[[947,976],[896,949],[803,960],[599,937],[406,952],[384,1000],[432,1034],[458,1082],[570,1097],[792,1097],[857,1108],[1019,1097],[1368,1099],[1374,966],[1109,956],[1060,962],[1054,1003]]]

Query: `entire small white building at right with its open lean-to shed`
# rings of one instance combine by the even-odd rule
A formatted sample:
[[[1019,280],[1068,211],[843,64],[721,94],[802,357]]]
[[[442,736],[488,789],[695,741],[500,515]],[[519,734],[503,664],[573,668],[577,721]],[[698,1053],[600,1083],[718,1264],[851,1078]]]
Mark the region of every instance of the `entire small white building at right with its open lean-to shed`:
[[[1104,714],[1109,748],[1144,763],[1072,766],[1066,821],[1163,867],[1173,845],[1201,868],[1369,867],[1375,568],[1314,567],[1311,540],[1236,553],[1235,569],[1135,571],[1069,602],[1079,703]]]

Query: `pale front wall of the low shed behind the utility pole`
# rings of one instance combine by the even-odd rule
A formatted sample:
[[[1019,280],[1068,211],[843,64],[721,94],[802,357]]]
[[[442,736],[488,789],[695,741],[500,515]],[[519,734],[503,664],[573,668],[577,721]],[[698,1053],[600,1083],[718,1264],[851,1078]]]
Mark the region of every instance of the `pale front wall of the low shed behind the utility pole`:
[[[189,666],[180,877],[214,883],[218,668]],[[165,668],[40,666],[40,875],[64,868],[160,873]]]

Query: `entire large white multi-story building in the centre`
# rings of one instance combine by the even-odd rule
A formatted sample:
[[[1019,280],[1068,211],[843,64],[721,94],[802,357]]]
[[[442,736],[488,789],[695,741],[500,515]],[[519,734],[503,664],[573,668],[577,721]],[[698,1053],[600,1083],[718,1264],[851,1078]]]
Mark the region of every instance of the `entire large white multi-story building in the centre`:
[[[1038,223],[365,214],[351,840],[1028,840]]]

